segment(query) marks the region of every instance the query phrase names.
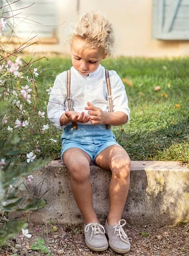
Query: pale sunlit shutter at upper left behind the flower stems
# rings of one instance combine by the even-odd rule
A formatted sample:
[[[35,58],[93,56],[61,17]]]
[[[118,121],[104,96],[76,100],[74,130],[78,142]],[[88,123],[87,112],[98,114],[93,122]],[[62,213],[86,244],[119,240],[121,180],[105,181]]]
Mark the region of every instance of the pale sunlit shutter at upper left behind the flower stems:
[[[0,0],[1,4],[7,4]],[[18,38],[39,36],[39,38],[52,38],[58,32],[58,7],[53,0],[22,0],[10,5],[12,10],[5,13],[6,16],[14,16],[14,33]],[[28,7],[28,8],[27,8]],[[4,12],[10,11],[6,7]],[[18,14],[18,15],[16,15]],[[7,19],[7,23],[13,27],[13,18]]]

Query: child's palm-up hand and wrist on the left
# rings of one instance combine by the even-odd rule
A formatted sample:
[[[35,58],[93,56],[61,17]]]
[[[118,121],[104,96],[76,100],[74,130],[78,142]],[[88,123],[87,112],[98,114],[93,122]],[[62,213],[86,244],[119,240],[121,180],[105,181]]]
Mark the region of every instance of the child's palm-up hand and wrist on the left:
[[[89,120],[90,116],[86,115],[84,112],[65,111],[60,117],[60,125],[66,125],[71,122],[86,123]]]

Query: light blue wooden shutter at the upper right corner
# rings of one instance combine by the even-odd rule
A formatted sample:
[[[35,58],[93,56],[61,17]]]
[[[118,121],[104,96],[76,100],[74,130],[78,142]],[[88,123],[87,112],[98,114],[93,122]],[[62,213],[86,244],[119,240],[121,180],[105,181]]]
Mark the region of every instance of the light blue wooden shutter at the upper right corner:
[[[152,13],[154,38],[189,39],[189,0],[154,0]]]

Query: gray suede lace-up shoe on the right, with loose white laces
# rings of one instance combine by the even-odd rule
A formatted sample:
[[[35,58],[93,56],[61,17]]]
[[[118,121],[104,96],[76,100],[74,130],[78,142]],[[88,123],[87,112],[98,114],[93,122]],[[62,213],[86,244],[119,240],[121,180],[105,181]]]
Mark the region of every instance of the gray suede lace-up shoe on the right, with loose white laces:
[[[124,224],[121,225],[121,221],[123,221]],[[131,248],[127,234],[123,230],[125,224],[125,220],[120,220],[117,225],[108,225],[108,221],[106,220],[104,226],[109,239],[110,248],[119,253],[126,253],[130,251]]]

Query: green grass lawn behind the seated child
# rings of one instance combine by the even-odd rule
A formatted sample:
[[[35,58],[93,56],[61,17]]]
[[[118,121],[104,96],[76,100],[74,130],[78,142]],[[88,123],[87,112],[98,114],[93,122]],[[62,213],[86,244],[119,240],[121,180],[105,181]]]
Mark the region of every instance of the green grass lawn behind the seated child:
[[[45,65],[44,60],[38,62],[39,68]],[[131,120],[121,127],[113,127],[113,132],[131,160],[188,162],[189,58],[170,60],[120,57],[103,60],[102,65],[130,81],[125,82],[125,88]],[[49,58],[47,68],[50,70],[45,72],[48,76],[41,74],[37,79],[41,84],[38,86],[38,94],[45,99],[43,103],[41,100],[43,108],[49,97],[44,89],[52,87],[56,75],[71,66],[70,59]],[[155,91],[156,86],[161,89]],[[61,132],[54,129],[53,133],[58,138]],[[46,146],[43,140],[41,156],[45,156],[48,150],[53,158],[58,158],[60,148],[60,142],[58,146],[50,142]]]

